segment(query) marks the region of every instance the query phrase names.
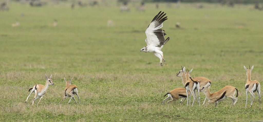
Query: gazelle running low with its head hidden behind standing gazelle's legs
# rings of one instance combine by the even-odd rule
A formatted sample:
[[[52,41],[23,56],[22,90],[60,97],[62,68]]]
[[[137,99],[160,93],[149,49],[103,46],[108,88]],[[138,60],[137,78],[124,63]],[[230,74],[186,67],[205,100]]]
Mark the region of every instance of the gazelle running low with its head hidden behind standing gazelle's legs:
[[[164,105],[164,102],[168,99],[172,99],[170,101],[168,101],[167,103],[169,104],[171,101],[175,101],[175,100],[178,100],[180,98],[187,98],[187,95],[186,95],[186,92],[185,92],[185,89],[184,88],[178,88],[178,89],[174,89],[174,90],[171,90],[169,91],[167,94],[164,95],[164,97],[168,95],[167,98],[164,99],[163,101],[163,105]],[[190,92],[188,92],[188,95],[190,95]],[[184,99],[185,100],[185,99]],[[181,102],[182,104],[183,102]]]

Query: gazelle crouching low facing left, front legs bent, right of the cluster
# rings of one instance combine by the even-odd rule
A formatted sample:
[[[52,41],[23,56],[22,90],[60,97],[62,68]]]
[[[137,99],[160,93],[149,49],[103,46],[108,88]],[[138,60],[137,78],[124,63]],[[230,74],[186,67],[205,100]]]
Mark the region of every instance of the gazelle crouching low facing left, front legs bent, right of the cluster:
[[[210,84],[211,85],[211,84]],[[206,102],[205,106],[208,103],[215,103],[215,106],[217,105],[218,102],[225,100],[227,97],[230,97],[233,100],[233,103],[231,106],[235,105],[237,102],[237,95],[238,95],[238,90],[234,86],[225,86],[221,90],[215,93],[211,93],[209,90],[209,86],[204,86],[200,89],[200,91],[205,92],[206,96],[208,98],[208,102]],[[234,96],[236,92],[236,97]]]

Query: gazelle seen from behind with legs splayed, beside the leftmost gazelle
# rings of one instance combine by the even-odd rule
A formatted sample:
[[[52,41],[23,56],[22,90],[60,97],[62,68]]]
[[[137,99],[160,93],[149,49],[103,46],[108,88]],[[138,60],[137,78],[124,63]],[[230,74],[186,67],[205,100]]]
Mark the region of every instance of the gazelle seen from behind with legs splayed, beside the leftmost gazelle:
[[[73,79],[73,77],[72,77]],[[75,100],[74,98],[74,94],[78,96],[78,99],[79,99],[79,95],[78,95],[78,87],[76,85],[71,85],[71,81],[72,79],[70,79],[69,81],[65,79],[64,77],[64,80],[66,82],[66,88],[64,90],[64,98],[59,102],[59,104],[67,97],[70,97],[69,101],[68,101],[68,104],[70,102],[70,100],[72,99],[73,97],[73,100],[77,103],[77,101]],[[78,104],[78,103],[77,103]],[[80,100],[79,100],[79,104],[80,104]]]

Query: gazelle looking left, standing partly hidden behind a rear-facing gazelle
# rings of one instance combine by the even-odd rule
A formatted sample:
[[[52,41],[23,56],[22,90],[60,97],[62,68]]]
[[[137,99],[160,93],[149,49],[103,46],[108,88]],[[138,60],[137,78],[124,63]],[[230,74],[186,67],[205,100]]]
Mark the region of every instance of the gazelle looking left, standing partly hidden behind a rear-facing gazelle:
[[[183,69],[185,70],[185,67],[183,67],[183,66],[181,66],[181,67],[182,67],[182,69],[176,74],[176,76],[178,76],[178,77],[180,76],[182,78],[182,82],[184,84],[184,81],[186,80],[186,78],[185,78],[185,73],[183,72]],[[207,85],[209,87],[211,86],[211,81],[206,77],[195,77],[195,79],[199,80],[200,88],[204,87],[205,85]],[[203,92],[203,93],[205,94],[205,92]],[[207,97],[205,96],[205,100],[204,100],[202,105],[205,104],[206,98]],[[183,99],[181,100],[181,102],[182,101],[183,101]]]

